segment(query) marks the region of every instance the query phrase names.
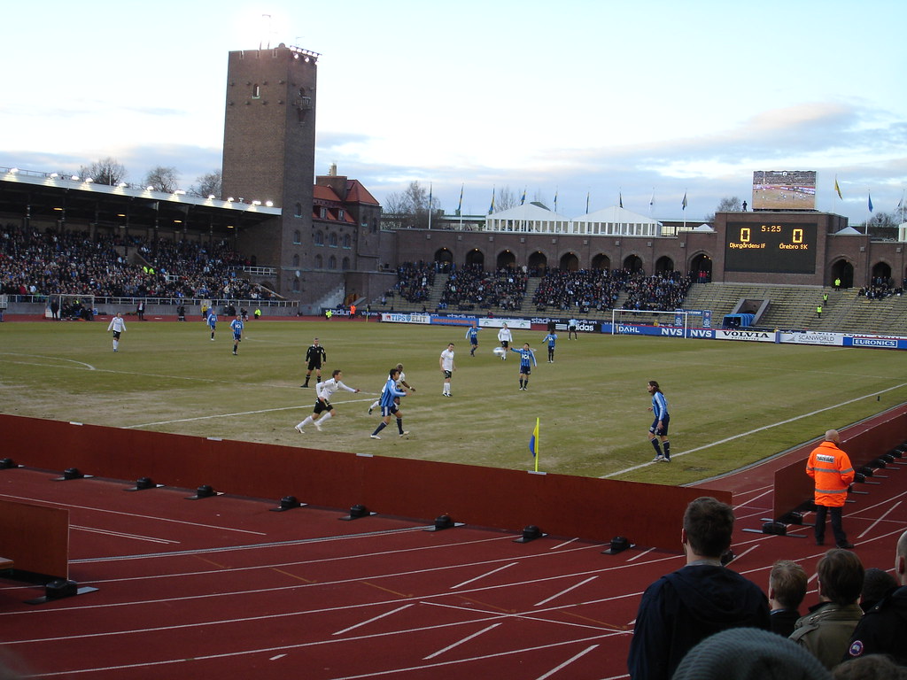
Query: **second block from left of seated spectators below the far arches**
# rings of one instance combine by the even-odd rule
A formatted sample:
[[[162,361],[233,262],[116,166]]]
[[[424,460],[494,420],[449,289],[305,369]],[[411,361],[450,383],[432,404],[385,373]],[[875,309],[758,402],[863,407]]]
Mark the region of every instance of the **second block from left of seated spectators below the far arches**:
[[[486,272],[481,265],[461,267],[448,276],[441,305],[517,310],[522,307],[522,298],[526,295],[527,279],[519,269]]]

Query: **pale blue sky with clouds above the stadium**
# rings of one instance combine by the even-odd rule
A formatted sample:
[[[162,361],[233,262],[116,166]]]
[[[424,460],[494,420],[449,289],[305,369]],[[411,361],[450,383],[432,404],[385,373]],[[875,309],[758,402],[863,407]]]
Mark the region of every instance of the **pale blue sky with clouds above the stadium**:
[[[702,219],[754,170],[816,170],[817,208],[907,187],[907,3],[160,0],[4,8],[0,167],[112,156],[188,188],[220,166],[227,53],[318,62],[316,171],[378,200],[411,180],[484,213],[493,187],[568,217]],[[269,15],[269,18],[265,15]],[[834,195],[834,178],[844,200]],[[688,208],[680,209],[684,193]]]

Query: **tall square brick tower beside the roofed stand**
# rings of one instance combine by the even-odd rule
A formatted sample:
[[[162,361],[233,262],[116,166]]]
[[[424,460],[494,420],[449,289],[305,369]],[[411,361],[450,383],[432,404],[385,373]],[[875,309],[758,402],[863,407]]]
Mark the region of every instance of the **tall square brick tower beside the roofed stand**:
[[[227,68],[222,197],[280,209],[255,228],[238,220],[236,240],[258,265],[278,267],[271,285],[291,297],[309,260],[318,56],[281,43],[230,52]]]

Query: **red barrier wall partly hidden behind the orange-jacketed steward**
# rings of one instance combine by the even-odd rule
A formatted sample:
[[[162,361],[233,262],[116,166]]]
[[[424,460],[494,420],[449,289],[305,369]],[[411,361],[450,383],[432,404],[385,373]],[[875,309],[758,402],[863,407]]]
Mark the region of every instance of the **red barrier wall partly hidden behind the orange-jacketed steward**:
[[[861,468],[907,441],[907,405],[902,404],[840,432],[841,448],[847,452],[853,468]],[[795,510],[805,500],[813,499],[813,479],[805,469],[809,453],[817,444],[818,441],[801,446],[797,449],[795,462],[775,471],[775,519]]]

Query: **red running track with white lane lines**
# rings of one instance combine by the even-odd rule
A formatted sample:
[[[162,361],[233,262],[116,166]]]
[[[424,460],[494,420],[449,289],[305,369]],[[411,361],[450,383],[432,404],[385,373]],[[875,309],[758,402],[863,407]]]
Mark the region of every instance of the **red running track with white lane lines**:
[[[762,586],[775,559],[812,574],[824,551],[807,527],[745,530],[771,515],[772,470],[707,484],[734,491],[731,568]],[[886,474],[845,509],[867,567],[890,568],[905,529],[907,469]],[[639,596],[683,564],[679,552],[610,556],[570,537],[522,544],[468,526],[338,521],[346,512],[55,476],[0,471],[0,498],[70,510],[70,576],[99,588],[30,606],[42,588],[0,581],[0,639],[37,677],[626,677]],[[665,521],[679,550],[680,518]]]

